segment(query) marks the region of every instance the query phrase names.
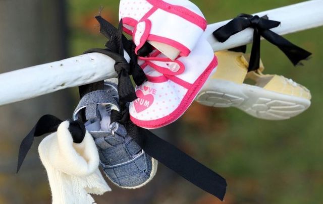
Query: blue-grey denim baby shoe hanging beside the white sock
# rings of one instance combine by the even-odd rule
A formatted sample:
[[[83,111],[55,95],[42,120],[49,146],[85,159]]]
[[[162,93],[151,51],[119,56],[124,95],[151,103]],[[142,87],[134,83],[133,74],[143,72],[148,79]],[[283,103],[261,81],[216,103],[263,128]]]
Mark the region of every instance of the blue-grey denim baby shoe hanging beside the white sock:
[[[100,164],[106,176],[122,188],[139,188],[157,171],[157,161],[147,155],[118,122],[110,124],[111,110],[119,111],[117,84],[104,82],[104,90],[86,94],[74,111],[73,118],[84,118],[85,127],[94,138]]]

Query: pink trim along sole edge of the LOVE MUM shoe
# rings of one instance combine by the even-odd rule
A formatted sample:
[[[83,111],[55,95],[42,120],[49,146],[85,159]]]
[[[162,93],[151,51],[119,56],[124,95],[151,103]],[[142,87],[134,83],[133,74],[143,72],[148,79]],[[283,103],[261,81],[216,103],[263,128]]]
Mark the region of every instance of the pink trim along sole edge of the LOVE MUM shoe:
[[[159,118],[156,120],[149,120],[149,121],[144,121],[144,120],[138,120],[130,115],[130,119],[133,123],[135,123],[138,126],[144,127],[144,128],[159,128],[163,127],[167,124],[170,124],[177,120],[179,117],[181,117],[184,112],[188,109],[188,107],[192,104],[194,101],[194,98],[208,79],[209,75],[213,71],[214,67],[218,65],[218,59],[214,55],[213,60],[211,63],[208,65],[207,69],[203,72],[203,74],[194,82],[193,86],[194,88],[191,89],[189,88],[187,93],[185,94],[184,98],[182,99],[181,103],[175,109],[171,114],[169,114],[166,117]],[[172,80],[173,81],[173,80]]]

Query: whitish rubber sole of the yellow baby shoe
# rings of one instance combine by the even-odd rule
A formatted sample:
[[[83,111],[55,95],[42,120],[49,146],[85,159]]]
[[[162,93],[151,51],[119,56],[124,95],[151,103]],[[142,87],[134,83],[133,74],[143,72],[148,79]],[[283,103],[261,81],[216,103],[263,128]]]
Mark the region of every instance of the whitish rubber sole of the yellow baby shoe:
[[[206,106],[236,107],[265,120],[289,119],[304,112],[311,104],[304,98],[226,80],[208,80],[195,100]]]

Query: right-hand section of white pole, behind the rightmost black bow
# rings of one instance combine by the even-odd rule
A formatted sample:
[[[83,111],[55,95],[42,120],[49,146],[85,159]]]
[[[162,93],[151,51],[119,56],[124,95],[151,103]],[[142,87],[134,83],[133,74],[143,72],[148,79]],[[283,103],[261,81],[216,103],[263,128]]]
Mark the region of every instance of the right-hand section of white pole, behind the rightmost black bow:
[[[281,22],[279,27],[271,29],[279,35],[295,33],[298,31],[323,26],[323,0],[302,2],[253,15],[258,15],[259,17],[267,15],[270,20]],[[231,36],[224,43],[216,40],[212,33],[218,28],[226,25],[229,21],[231,20],[214,23],[207,26],[204,37],[211,44],[214,51],[230,49],[252,42],[253,29],[251,28]]]

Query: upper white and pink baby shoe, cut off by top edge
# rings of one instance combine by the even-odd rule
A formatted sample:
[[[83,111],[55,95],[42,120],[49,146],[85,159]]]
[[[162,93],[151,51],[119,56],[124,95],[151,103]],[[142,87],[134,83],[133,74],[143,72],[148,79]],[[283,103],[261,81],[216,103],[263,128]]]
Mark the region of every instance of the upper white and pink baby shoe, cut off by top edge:
[[[121,0],[119,18],[136,54],[146,41],[169,58],[188,56],[206,29],[200,9],[188,0]],[[167,51],[175,48],[176,54]]]

